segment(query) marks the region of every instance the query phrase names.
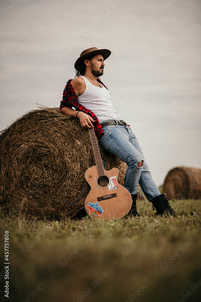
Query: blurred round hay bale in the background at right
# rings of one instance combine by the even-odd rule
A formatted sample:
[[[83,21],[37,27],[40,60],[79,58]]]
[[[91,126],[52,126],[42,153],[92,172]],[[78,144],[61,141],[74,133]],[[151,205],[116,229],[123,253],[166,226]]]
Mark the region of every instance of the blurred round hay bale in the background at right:
[[[201,169],[178,167],[169,171],[165,177],[163,191],[168,198],[201,198]]]

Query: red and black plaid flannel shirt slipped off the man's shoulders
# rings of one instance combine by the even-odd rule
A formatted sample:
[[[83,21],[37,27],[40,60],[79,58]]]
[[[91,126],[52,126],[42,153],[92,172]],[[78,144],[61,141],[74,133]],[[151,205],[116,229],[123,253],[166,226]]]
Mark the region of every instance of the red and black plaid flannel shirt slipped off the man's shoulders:
[[[99,123],[98,118],[91,110],[88,110],[87,108],[85,108],[84,106],[82,106],[78,103],[77,95],[73,89],[71,81],[72,81],[72,79],[70,79],[67,82],[66,87],[64,88],[63,100],[61,101],[59,109],[61,109],[63,107],[70,107],[70,108],[74,107],[76,110],[82,111],[82,112],[90,115],[94,120],[93,125],[94,125],[94,131],[96,133],[96,136],[97,137],[102,136],[104,134],[104,131],[103,131],[102,126]],[[104,85],[99,79],[97,79],[97,81],[100,82],[100,84]],[[107,89],[107,87],[105,85],[104,85],[104,87]]]

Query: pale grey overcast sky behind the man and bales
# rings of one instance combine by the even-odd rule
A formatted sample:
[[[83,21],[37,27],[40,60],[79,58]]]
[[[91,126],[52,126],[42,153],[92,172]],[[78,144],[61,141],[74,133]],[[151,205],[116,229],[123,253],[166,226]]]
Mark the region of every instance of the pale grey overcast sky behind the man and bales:
[[[101,81],[156,184],[174,167],[201,168],[200,3],[1,0],[0,130],[36,103],[59,107],[80,53],[107,48]]]

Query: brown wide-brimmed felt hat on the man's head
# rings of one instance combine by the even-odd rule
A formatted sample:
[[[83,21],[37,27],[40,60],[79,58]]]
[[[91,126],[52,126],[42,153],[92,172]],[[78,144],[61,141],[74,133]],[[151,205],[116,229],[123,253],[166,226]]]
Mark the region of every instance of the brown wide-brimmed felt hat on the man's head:
[[[106,60],[110,56],[111,51],[108,49],[97,49],[97,47],[91,47],[91,48],[85,49],[82,51],[79,58],[77,59],[75,65],[74,65],[75,69],[77,71],[80,71],[80,69],[84,66],[85,59],[87,59],[90,56],[99,54],[99,53],[103,56],[104,60]]]

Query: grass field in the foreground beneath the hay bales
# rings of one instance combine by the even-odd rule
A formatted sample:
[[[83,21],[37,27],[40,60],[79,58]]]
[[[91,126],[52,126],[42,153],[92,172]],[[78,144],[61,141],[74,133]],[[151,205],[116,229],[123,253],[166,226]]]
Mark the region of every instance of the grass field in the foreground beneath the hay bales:
[[[9,231],[5,301],[199,301],[201,201],[171,205],[178,218],[154,217],[148,202],[141,217],[106,222],[1,214],[2,288],[4,232]]]

